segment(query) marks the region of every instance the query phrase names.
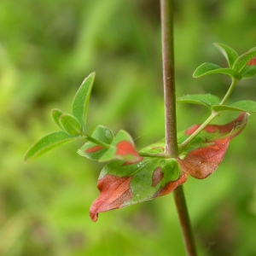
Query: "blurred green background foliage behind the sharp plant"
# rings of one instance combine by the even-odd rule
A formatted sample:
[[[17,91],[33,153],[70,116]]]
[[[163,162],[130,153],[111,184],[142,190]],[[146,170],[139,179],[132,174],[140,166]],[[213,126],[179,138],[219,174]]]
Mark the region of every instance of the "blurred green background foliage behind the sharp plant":
[[[224,96],[224,76],[192,78],[202,62],[227,66],[214,42],[239,54],[256,46],[256,1],[175,1],[177,96]],[[0,1],[0,255],[183,256],[172,195],[91,222],[102,165],[76,153],[83,142],[22,161],[33,142],[58,130],[50,109],[70,112],[92,71],[90,131],[123,128],[137,148],[164,137],[159,1]],[[255,83],[240,82],[230,100],[256,100]],[[177,105],[178,129],[207,115]],[[256,255],[255,125],[252,115],[211,177],[184,184],[199,255]]]

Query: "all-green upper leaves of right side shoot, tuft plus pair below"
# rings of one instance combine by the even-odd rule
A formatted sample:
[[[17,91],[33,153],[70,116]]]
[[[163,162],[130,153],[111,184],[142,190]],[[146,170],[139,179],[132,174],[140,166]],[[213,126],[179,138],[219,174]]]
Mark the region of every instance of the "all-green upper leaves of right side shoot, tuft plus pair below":
[[[241,79],[250,79],[256,75],[256,66],[251,64],[251,60],[256,56],[256,48],[248,50],[242,55],[238,55],[235,49],[230,48],[226,44],[215,43],[214,46],[224,55],[228,61],[229,67],[219,67],[213,63],[203,63],[201,66],[195,69],[193,73],[194,78],[201,78],[210,74],[224,74],[231,78],[232,84],[230,89],[233,90],[237,81]],[[227,98],[230,96],[228,91],[224,100],[220,101],[218,96],[210,94],[197,94],[181,96],[177,99],[177,102],[199,104],[210,108],[212,112],[220,113],[223,111],[237,111],[237,112],[256,112],[256,102],[253,101],[240,101],[233,102],[230,105],[224,104]]]

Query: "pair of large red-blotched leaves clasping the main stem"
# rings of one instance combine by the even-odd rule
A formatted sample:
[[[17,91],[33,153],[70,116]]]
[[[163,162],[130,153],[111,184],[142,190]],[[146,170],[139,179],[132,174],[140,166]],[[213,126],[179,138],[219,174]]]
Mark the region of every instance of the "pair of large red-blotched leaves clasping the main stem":
[[[177,159],[143,157],[137,162],[113,160],[100,174],[97,183],[100,195],[90,207],[90,218],[96,221],[99,212],[169,194],[184,183],[188,175],[200,179],[208,177],[223,160],[230,140],[246,125],[246,113],[241,113],[226,125],[207,125]],[[179,143],[183,143],[199,127],[200,125],[195,125],[185,131],[179,138]],[[86,151],[86,148],[83,149]],[[164,152],[164,140],[140,151],[141,154]]]

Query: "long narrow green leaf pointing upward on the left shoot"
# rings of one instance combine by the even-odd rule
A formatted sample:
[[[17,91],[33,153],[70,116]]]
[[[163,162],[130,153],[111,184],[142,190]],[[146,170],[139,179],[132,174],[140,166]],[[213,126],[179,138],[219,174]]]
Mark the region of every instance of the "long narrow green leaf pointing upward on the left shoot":
[[[73,98],[72,112],[73,116],[79,120],[85,132],[85,122],[88,110],[88,104],[90,100],[90,91],[94,83],[96,73],[90,73],[90,75],[84,79],[84,82],[79,87],[76,95]]]

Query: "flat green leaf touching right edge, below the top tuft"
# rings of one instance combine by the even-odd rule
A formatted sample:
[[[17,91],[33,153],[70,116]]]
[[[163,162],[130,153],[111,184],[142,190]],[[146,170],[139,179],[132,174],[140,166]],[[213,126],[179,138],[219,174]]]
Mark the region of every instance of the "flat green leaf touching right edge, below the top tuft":
[[[216,112],[229,110],[229,111],[256,113],[256,102],[241,101],[241,102],[235,102],[230,106],[226,106],[226,105],[212,106],[212,110]]]

